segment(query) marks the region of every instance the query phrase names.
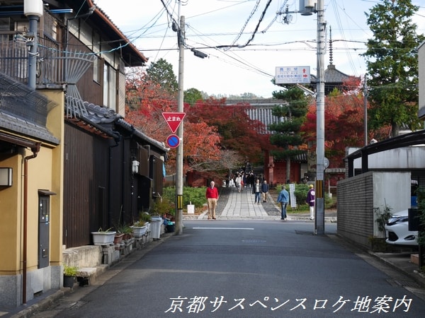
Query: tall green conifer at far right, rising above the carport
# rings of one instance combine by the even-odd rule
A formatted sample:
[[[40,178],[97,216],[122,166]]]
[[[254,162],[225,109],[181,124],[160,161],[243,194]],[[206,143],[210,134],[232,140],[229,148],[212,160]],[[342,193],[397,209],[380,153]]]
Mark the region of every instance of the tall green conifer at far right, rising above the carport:
[[[416,33],[412,16],[419,7],[411,0],[382,0],[366,13],[373,38],[366,57],[371,108],[370,128],[389,124],[392,136],[400,127],[419,128],[417,118],[418,61],[416,47],[424,35]]]

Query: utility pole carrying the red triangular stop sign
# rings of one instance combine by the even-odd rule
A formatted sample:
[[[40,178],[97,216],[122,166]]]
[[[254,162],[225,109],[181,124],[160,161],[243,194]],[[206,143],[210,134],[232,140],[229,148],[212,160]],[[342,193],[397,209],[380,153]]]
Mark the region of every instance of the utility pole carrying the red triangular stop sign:
[[[180,10],[179,10],[180,11]],[[180,17],[179,41],[179,97],[177,99],[177,112],[183,112],[183,69],[184,69],[184,16]],[[180,143],[176,155],[176,223],[174,235],[183,233],[183,120],[177,129]]]

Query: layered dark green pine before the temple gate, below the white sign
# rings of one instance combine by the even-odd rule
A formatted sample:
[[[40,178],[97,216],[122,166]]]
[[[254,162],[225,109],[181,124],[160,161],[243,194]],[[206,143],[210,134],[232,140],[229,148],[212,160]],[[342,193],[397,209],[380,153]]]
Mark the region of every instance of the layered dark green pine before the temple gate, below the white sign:
[[[279,147],[278,150],[271,151],[271,154],[277,160],[286,161],[286,177],[289,179],[291,158],[305,151],[299,148],[304,142],[300,129],[305,121],[309,98],[295,86],[288,90],[274,91],[272,95],[273,98],[288,102],[288,105],[277,105],[273,108],[273,115],[283,120],[269,125],[268,128],[273,131],[270,136],[271,144]]]

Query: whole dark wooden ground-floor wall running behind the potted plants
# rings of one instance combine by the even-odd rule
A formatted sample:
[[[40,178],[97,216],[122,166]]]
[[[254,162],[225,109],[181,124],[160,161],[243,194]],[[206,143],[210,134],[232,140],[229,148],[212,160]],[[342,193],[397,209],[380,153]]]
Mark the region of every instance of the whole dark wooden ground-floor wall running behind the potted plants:
[[[140,153],[147,160],[149,151]],[[133,174],[140,153],[131,135],[115,141],[65,122],[64,245],[90,245],[91,232],[132,224],[140,211],[149,211],[154,192],[162,196],[159,153],[150,151],[147,167]]]

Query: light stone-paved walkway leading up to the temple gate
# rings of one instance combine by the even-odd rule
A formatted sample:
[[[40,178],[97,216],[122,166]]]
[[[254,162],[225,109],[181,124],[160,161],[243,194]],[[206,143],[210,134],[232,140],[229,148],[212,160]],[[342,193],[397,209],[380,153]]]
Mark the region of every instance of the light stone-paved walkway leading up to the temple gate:
[[[256,204],[255,195],[252,194],[252,188],[244,188],[241,192],[237,192],[237,188],[219,189],[220,199],[215,210],[217,220],[233,220],[233,219],[267,219],[280,220],[280,205],[276,203],[275,197],[268,195],[267,202],[263,202],[261,197],[260,204]],[[287,220],[305,220],[310,221],[310,213],[291,213],[292,208],[287,208]],[[198,216],[198,219],[207,219],[208,210]],[[327,222],[336,222],[336,212],[325,213]]]

